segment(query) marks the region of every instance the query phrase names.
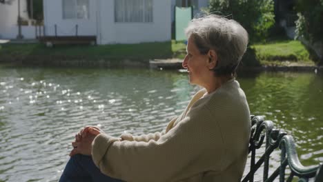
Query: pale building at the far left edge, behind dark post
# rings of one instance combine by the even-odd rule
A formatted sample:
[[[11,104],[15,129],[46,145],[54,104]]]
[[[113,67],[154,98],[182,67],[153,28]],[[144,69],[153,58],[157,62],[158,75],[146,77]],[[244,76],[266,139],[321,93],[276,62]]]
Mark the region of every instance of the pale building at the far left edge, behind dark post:
[[[18,35],[18,1],[4,0],[0,3],[0,39],[16,39]],[[20,1],[20,17],[28,19],[27,1]],[[21,34],[24,38],[34,39],[35,28],[21,26]]]

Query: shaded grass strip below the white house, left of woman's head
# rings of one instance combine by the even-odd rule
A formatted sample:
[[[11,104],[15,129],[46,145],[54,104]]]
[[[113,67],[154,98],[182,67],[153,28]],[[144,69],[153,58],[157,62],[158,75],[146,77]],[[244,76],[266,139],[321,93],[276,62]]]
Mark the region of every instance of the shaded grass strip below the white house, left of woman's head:
[[[1,45],[0,45],[1,46]],[[186,45],[175,41],[115,44],[115,45],[57,45],[47,48],[41,43],[3,44],[0,56],[59,56],[82,59],[168,59],[184,57]]]

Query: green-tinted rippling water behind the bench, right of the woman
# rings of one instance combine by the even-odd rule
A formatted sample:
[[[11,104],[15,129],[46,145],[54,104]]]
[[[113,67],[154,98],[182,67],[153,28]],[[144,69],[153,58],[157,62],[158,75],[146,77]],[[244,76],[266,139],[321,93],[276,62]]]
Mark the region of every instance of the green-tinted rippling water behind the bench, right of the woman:
[[[264,73],[242,79],[253,114],[284,128],[306,165],[323,161],[323,78],[313,73]]]

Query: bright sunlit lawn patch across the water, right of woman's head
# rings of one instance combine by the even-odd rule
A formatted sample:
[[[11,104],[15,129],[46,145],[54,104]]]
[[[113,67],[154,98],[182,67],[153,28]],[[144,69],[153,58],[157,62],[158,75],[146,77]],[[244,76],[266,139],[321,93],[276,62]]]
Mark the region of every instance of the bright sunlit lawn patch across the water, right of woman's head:
[[[300,41],[276,40],[251,46],[262,65],[314,65]]]

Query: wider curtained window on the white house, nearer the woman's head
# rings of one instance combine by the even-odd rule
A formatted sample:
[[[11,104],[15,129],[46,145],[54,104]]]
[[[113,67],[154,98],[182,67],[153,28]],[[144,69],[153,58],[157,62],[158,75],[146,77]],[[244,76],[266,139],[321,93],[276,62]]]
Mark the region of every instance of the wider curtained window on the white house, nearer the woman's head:
[[[115,0],[115,22],[153,22],[153,0]]]

